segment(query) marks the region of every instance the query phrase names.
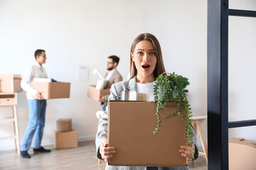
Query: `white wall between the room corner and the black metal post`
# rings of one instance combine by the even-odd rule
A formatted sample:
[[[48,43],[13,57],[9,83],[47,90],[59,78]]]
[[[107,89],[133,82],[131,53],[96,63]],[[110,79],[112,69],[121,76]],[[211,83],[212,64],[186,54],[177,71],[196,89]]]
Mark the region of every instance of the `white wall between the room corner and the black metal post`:
[[[193,115],[206,115],[207,1],[150,2],[145,8],[145,30],[159,38],[166,72],[188,78],[188,101]],[[203,131],[207,137],[206,121]]]

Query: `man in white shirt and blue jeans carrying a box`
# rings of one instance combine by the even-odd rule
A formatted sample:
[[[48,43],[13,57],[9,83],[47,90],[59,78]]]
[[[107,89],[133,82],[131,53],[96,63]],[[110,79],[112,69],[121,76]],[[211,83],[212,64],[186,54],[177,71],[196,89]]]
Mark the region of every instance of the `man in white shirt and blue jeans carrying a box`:
[[[50,152],[50,149],[41,147],[46,120],[46,100],[43,98],[41,91],[37,91],[31,86],[33,78],[47,78],[46,69],[42,67],[42,64],[46,63],[46,51],[36,50],[35,58],[36,62],[26,69],[21,80],[21,87],[27,92],[29,108],[29,123],[21,145],[21,156],[23,158],[31,158],[28,149],[31,147],[33,135],[35,135],[33,152]]]

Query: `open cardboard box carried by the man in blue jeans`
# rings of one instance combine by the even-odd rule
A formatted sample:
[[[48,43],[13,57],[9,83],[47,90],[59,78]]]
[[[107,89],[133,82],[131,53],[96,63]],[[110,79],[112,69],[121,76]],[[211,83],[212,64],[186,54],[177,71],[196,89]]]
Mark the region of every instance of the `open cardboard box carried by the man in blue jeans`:
[[[31,81],[31,86],[37,91],[42,91],[45,99],[70,97],[70,83]]]

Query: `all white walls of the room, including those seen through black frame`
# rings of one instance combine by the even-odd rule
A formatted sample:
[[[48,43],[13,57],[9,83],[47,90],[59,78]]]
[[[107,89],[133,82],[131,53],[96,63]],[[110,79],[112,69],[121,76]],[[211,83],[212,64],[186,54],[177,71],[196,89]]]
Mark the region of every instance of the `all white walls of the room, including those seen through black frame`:
[[[256,10],[254,0],[230,0],[230,8]],[[253,88],[256,79],[255,18],[230,17],[229,118],[255,118]],[[42,48],[48,57],[48,76],[70,81],[69,99],[48,100],[43,145],[52,144],[55,120],[73,118],[80,140],[95,137],[100,110],[87,98],[87,85],[96,84],[92,69],[103,74],[106,57],[118,55],[123,77],[129,71],[129,48],[139,33],[159,39],[167,72],[188,77],[188,99],[193,114],[207,113],[207,1],[3,1],[0,0],[0,73],[23,74],[33,62],[33,52]],[[241,42],[242,40],[242,42]],[[235,42],[237,41],[237,42]],[[89,81],[78,81],[78,66],[90,67]],[[239,75],[239,76],[238,76]],[[1,115],[11,110],[0,108]],[[21,139],[28,123],[25,93],[18,94]],[[0,136],[11,134],[10,123],[0,124]],[[207,132],[206,123],[203,124]],[[230,137],[256,140],[255,127],[230,130]],[[13,142],[0,141],[0,149]]]

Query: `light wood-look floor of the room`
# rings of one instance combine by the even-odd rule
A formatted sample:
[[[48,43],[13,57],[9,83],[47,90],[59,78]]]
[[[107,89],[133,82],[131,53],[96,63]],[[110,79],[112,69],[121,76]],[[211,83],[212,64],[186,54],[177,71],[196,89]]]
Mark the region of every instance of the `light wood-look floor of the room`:
[[[105,162],[97,163],[95,156],[94,141],[80,142],[78,148],[73,149],[53,149],[48,146],[46,149],[52,149],[52,152],[46,154],[33,154],[32,149],[28,151],[31,159],[23,159],[14,150],[0,152],[1,170],[32,170],[32,169],[105,169]],[[189,164],[190,169],[193,165]],[[206,170],[206,159],[198,158],[195,170]]]

